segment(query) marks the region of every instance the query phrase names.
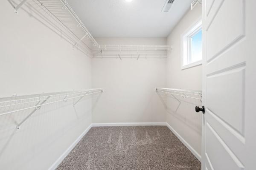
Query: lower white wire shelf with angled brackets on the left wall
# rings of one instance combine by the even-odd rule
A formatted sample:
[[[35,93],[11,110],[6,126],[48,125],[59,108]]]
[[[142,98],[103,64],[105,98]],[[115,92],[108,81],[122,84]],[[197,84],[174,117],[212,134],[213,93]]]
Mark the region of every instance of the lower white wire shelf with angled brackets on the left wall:
[[[15,113],[19,111],[30,110],[29,115],[17,125],[26,121],[35,111],[44,105],[50,105],[56,102],[67,102],[73,99],[75,106],[84,96],[103,92],[102,88],[87,89],[84,91],[64,91],[55,93],[32,94],[24,96],[12,96],[0,98],[0,116]],[[76,100],[76,98],[79,98]]]

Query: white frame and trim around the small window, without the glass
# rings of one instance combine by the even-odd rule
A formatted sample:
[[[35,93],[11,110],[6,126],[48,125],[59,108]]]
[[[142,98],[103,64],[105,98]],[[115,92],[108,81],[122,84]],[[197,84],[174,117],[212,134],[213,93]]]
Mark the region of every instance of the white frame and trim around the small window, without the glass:
[[[202,19],[198,19],[181,35],[181,70],[202,64],[202,59],[192,62],[191,41],[192,37],[202,29]],[[188,63],[189,62],[189,63]]]

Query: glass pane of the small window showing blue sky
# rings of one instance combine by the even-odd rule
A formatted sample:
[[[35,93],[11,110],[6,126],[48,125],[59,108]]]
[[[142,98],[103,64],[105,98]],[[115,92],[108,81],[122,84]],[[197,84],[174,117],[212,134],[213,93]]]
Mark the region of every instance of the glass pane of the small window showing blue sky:
[[[191,37],[191,61],[202,59],[202,30]]]

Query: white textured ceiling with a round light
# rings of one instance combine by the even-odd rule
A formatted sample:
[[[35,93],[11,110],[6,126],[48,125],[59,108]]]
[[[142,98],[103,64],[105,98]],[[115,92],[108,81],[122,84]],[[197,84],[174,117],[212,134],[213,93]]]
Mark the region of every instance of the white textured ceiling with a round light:
[[[93,37],[167,37],[192,0],[68,0]]]

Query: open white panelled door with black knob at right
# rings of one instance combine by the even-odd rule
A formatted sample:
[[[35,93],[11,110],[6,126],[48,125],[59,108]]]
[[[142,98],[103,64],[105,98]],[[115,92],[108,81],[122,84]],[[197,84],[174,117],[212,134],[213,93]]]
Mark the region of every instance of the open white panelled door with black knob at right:
[[[256,170],[256,0],[202,7],[202,170]]]

